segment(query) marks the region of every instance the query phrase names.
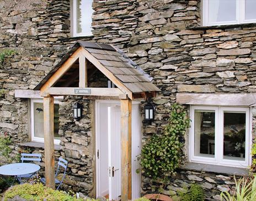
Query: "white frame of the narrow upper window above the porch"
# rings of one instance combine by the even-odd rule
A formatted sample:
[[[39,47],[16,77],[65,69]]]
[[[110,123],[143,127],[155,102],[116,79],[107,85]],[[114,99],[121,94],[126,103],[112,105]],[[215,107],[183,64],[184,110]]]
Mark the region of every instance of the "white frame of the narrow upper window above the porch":
[[[73,37],[81,37],[81,36],[93,36],[92,30],[89,32],[82,32],[82,33],[77,33],[77,1],[76,0],[71,0],[71,34]]]

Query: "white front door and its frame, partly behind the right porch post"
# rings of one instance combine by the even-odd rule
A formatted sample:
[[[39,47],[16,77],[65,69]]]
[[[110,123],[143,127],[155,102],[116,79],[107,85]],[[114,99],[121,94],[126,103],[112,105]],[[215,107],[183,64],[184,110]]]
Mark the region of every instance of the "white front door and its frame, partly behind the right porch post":
[[[97,197],[121,195],[121,110],[120,102],[97,104]],[[141,152],[141,114],[139,104],[132,104],[132,200],[140,198],[141,174],[137,156]]]

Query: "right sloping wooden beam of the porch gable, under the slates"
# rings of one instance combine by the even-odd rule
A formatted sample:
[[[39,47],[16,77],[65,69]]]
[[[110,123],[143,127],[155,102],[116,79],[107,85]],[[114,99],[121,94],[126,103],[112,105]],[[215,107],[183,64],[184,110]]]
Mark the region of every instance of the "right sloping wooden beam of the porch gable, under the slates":
[[[127,96],[132,100],[132,92],[126,88],[126,86],[124,84],[122,84],[120,82],[119,79],[117,79],[115,77],[115,75],[113,75],[113,73],[111,73],[108,69],[106,69],[99,61],[97,58],[95,58],[94,56],[92,56],[87,50],[85,50],[84,48],[82,49],[82,53],[84,55],[84,57],[86,57],[88,59],[89,62],[91,62],[92,64],[94,64],[94,66],[96,68],[98,68],[108,79],[111,80],[111,82],[113,82],[123,93],[127,94]]]

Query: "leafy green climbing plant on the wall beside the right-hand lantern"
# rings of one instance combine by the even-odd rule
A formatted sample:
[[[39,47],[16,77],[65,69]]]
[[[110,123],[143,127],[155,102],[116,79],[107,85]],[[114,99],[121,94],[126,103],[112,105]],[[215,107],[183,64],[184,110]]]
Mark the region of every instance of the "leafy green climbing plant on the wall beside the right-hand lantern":
[[[153,179],[176,173],[182,162],[182,141],[189,124],[184,107],[173,104],[164,134],[153,135],[141,150],[142,173]]]

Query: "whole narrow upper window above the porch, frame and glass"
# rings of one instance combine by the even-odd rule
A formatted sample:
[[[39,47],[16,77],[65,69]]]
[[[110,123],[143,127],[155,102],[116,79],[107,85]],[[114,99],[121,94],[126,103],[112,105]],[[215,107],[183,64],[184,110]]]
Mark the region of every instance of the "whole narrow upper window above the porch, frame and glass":
[[[73,36],[92,35],[93,0],[71,0],[71,27]]]

